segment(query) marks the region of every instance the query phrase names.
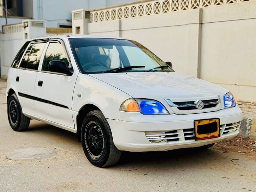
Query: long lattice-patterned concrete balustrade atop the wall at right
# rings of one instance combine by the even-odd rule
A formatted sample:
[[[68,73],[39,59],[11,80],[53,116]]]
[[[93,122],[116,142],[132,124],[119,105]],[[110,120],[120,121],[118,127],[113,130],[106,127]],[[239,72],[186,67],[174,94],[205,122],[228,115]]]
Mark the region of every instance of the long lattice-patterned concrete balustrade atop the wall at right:
[[[166,12],[213,7],[253,0],[144,0],[90,11],[90,22],[125,19]]]

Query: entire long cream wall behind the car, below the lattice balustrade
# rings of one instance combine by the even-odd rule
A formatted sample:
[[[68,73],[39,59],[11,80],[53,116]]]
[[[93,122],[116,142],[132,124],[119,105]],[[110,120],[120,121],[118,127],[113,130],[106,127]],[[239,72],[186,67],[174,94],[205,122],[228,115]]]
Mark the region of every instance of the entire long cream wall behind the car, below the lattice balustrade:
[[[136,40],[171,61],[174,70],[256,102],[256,1],[92,20],[88,34]]]

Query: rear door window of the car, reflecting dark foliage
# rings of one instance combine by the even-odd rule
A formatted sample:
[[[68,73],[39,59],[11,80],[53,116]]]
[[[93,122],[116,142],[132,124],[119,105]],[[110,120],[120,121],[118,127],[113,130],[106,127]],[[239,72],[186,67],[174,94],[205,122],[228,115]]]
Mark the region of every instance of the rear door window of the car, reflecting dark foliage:
[[[46,43],[31,44],[26,51],[20,67],[37,70]]]

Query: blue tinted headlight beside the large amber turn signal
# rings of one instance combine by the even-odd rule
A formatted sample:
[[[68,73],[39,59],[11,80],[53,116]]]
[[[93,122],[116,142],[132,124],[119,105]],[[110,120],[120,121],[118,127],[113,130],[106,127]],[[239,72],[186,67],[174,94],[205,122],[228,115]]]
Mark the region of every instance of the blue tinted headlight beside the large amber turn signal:
[[[135,99],[140,107],[140,112],[144,115],[166,115],[168,114],[164,106],[155,100]]]

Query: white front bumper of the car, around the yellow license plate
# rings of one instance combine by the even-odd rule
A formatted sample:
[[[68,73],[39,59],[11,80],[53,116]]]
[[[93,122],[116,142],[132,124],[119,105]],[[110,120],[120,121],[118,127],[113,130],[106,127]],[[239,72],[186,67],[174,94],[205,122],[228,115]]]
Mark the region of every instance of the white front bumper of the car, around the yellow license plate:
[[[221,134],[219,138],[195,141],[184,136],[186,130],[194,128],[194,120],[211,118],[220,118]],[[219,111],[187,115],[147,116],[141,113],[120,112],[120,119],[122,120],[107,120],[111,128],[114,144],[119,150],[142,152],[200,147],[222,140],[229,140],[239,133],[240,125],[232,132],[225,131],[226,125],[240,122],[242,118],[242,111],[237,105],[236,107]],[[175,130],[180,134],[178,140],[159,143],[150,142],[145,134],[145,132],[171,132]]]

